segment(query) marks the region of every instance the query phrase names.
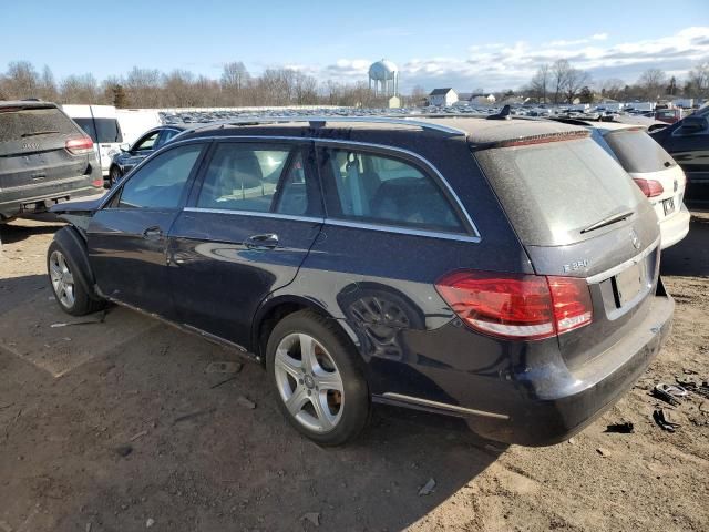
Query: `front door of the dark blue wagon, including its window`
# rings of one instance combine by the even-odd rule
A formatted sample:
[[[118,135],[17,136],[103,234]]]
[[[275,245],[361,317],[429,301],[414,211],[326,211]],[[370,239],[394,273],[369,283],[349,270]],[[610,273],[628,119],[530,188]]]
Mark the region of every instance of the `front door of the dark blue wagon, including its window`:
[[[110,298],[171,318],[167,233],[184,205],[204,143],[147,161],[94,214],[88,229],[96,284]]]

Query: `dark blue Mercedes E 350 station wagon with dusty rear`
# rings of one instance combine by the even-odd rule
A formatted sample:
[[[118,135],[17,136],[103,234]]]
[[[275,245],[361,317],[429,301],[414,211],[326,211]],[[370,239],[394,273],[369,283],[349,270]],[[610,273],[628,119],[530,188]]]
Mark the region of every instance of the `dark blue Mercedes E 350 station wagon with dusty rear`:
[[[237,347],[321,444],[372,402],[561,441],[633,386],[674,311],[653,208],[561,123],[213,124],[54,211],[62,309],[113,301]]]

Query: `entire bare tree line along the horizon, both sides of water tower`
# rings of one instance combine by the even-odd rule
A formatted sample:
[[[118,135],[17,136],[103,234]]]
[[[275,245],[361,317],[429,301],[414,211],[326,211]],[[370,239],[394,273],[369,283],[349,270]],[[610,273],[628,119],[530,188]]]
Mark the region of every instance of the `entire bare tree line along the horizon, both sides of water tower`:
[[[482,90],[476,91],[476,93]],[[592,103],[598,99],[655,101],[666,96],[709,98],[709,62],[695,65],[686,79],[646,70],[636,83],[619,79],[594,82],[589,72],[567,60],[542,64],[518,91],[494,93],[497,100],[522,95],[540,103]],[[408,105],[424,105],[428,92],[415,85],[402,98]],[[28,61],[13,61],[0,73],[0,100],[40,98],[56,103],[95,103],[116,108],[205,108],[265,105],[338,105],[382,108],[364,81],[341,83],[292,69],[267,69],[253,75],[240,61],[226,63],[219,79],[185,70],[163,73],[134,66],[120,76],[99,82],[92,74],[69,75],[58,82],[49,66],[38,71]]]

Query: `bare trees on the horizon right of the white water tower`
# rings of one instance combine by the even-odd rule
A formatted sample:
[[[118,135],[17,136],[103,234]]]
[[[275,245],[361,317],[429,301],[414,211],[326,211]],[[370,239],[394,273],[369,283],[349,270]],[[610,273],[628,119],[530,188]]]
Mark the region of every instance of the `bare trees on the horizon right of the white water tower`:
[[[660,69],[648,69],[636,83],[614,78],[594,84],[589,72],[561,59],[542,64],[521,92],[540,103],[555,104],[573,103],[576,99],[580,103],[592,103],[597,99],[656,101],[667,96],[709,98],[709,62],[695,65],[684,82],[674,75],[668,76]]]

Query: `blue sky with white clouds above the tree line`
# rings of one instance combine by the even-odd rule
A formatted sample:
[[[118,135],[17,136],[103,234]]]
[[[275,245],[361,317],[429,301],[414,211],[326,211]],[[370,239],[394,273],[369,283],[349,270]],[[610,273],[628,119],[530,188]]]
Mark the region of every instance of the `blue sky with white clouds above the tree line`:
[[[503,8],[499,6],[504,6]],[[33,0],[3,2],[0,72],[10,61],[55,78],[99,81],[133,66],[218,78],[288,66],[319,80],[367,81],[398,65],[403,92],[516,89],[540,64],[567,59],[596,83],[631,83],[649,68],[681,79],[709,61],[709,0]],[[583,6],[583,8],[580,8]]]

